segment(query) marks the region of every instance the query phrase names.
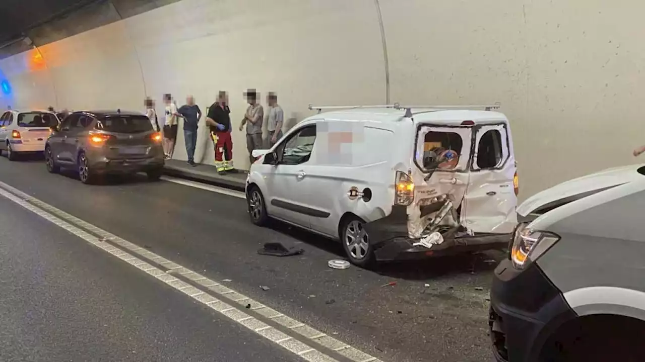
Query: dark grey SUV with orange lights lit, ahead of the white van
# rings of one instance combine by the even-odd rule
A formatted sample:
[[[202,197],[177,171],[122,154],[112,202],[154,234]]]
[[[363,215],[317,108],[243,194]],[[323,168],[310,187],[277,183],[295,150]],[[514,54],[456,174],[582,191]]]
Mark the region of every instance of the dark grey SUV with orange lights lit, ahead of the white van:
[[[159,180],[164,165],[161,134],[141,113],[78,111],[52,128],[45,144],[47,170],[75,169],[84,184],[99,175],[146,172]]]

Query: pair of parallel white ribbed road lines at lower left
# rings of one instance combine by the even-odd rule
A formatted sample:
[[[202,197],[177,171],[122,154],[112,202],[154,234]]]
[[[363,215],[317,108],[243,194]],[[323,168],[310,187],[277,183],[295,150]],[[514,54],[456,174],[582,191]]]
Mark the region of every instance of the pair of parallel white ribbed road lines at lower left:
[[[110,243],[106,243],[103,240],[110,240],[111,242],[114,242],[115,244],[127,249],[127,251],[119,252],[118,254],[116,254],[115,252],[110,252],[110,254],[112,254],[112,255],[116,256],[117,258],[119,258],[121,260],[124,260],[125,262],[128,262],[128,263],[130,263],[132,265],[139,265],[139,269],[147,269],[148,270],[147,274],[150,274],[150,275],[154,276],[155,278],[157,278],[157,279],[159,279],[161,281],[164,281],[164,283],[170,285],[174,289],[177,289],[177,290],[183,292],[186,295],[188,295],[188,293],[191,292],[190,287],[192,287],[192,285],[175,278],[174,276],[166,273],[163,269],[158,269],[158,268],[154,267],[154,265],[151,265],[148,262],[144,262],[144,260],[141,260],[141,259],[135,257],[134,255],[130,254],[128,251],[133,252],[133,253],[135,253],[137,255],[143,256],[144,258],[146,258],[147,260],[150,260],[155,265],[159,265],[159,267],[163,267],[164,269],[170,269],[166,265],[171,265],[172,269],[184,269],[182,274],[188,274],[190,272],[193,272],[193,271],[190,271],[190,269],[182,267],[181,265],[179,265],[177,263],[174,263],[174,262],[172,262],[170,260],[166,260],[164,258],[161,258],[160,256],[157,256],[157,254],[154,254],[154,252],[150,252],[150,251],[148,251],[146,249],[143,249],[143,248],[139,247],[138,245],[135,245],[134,243],[131,243],[131,242],[128,242],[127,240],[124,240],[123,238],[119,238],[119,236],[116,236],[114,234],[108,233],[107,231],[104,231],[103,229],[100,229],[99,227],[97,227],[95,225],[89,224],[88,222],[85,222],[85,221],[83,221],[83,220],[81,220],[81,219],[79,219],[79,218],[77,218],[77,217],[75,217],[75,216],[73,216],[71,214],[65,213],[61,209],[57,209],[56,207],[54,207],[52,205],[46,204],[45,202],[43,202],[43,201],[41,201],[41,200],[39,200],[39,199],[37,199],[37,198],[35,198],[33,196],[27,195],[26,193],[23,193],[19,189],[16,189],[15,187],[12,187],[12,186],[9,186],[8,184],[5,184],[5,182],[1,182],[1,181],[0,181],[0,195],[5,196],[9,200],[12,200],[16,204],[19,204],[19,205],[25,207],[26,209],[34,212],[35,214],[38,214],[39,216],[45,218],[46,220],[49,220],[50,222],[52,222],[52,223],[54,223],[56,225],[59,225],[63,229],[69,231],[72,234],[75,234],[75,235],[79,236],[81,239],[85,240],[86,242],[91,243],[92,245],[95,245],[95,246],[103,249],[106,252],[109,252],[108,250],[113,250],[114,251],[114,249],[119,249],[119,248],[115,248],[114,245],[112,245]],[[67,220],[67,221],[64,221],[64,220]],[[71,222],[72,224],[69,224],[68,222]],[[84,231],[83,229],[79,229],[77,226],[75,226],[73,224],[77,225],[78,227],[83,227],[83,229],[86,229],[86,230],[92,230],[93,233],[95,233],[97,235],[100,235],[101,238],[97,238],[96,236],[94,236],[92,234],[88,234],[88,233],[86,233],[86,231]],[[119,251],[121,251],[121,249],[119,249]],[[153,259],[163,260],[163,262],[162,263],[157,263],[157,262],[152,261]],[[150,269],[150,267],[152,267],[152,269]],[[217,283],[217,282],[215,282],[213,280],[210,280],[210,279],[206,278],[205,276],[203,276],[203,275],[201,275],[201,274],[199,274],[197,272],[193,272],[193,273],[200,280],[200,282],[198,283],[199,285],[202,285],[202,286],[204,286],[204,285],[212,285],[212,286],[220,285],[219,283]],[[177,273],[177,274],[179,274],[179,273]],[[186,276],[183,276],[183,277],[185,278]],[[188,284],[188,286],[186,287],[186,285],[184,285],[182,287],[175,287],[175,285],[173,285],[173,283],[175,283],[176,281],[180,281],[179,285]],[[210,291],[215,292],[215,294],[218,294],[219,296],[221,296],[223,298],[226,298],[226,299],[232,301],[233,303],[235,303],[233,298],[239,300],[240,297],[245,297],[246,299],[243,298],[242,300],[239,300],[239,301],[243,301],[244,304],[250,303],[250,304],[254,305],[255,307],[253,307],[251,310],[260,310],[260,309],[268,308],[268,307],[266,307],[266,305],[263,305],[262,303],[259,303],[258,301],[255,301],[255,300],[253,300],[251,298],[248,298],[248,297],[244,296],[244,294],[241,294],[239,292],[235,292],[235,291],[233,291],[232,289],[229,289],[229,288],[224,288],[224,289],[225,289],[224,291],[219,292],[219,291],[217,291],[215,289],[209,288]],[[204,294],[206,294],[206,293],[204,293]],[[201,303],[204,303],[203,301],[199,300],[199,296],[202,296],[202,295],[203,295],[202,293],[194,294],[194,296],[196,297],[194,299],[200,301]],[[211,296],[212,298],[215,298],[215,295],[213,295],[213,294],[208,294],[208,295]],[[212,308],[213,310],[215,310],[217,312],[220,312],[221,314],[224,314],[225,316],[227,316],[228,318],[231,318],[231,319],[233,319],[232,317],[235,316],[235,314],[237,314],[238,316],[239,316],[239,314],[243,314],[243,315],[248,316],[248,314],[243,312],[243,310],[239,310],[239,309],[237,309],[235,307],[231,307],[230,305],[228,305],[224,301],[219,300],[217,298],[215,298],[214,301],[208,301],[207,303],[204,303],[204,304],[208,305],[208,307]],[[231,314],[231,316],[226,314],[226,312],[230,312],[231,310],[234,310],[234,309],[237,310],[237,313],[233,313],[233,314]],[[268,309],[270,309],[270,308],[268,308]],[[272,310],[272,309],[270,309],[270,310]],[[313,330],[313,332],[318,332],[318,334],[322,334],[320,331],[315,330],[312,327],[310,327],[308,325],[305,325],[304,323],[301,323],[301,322],[299,322],[299,321],[297,321],[297,320],[295,320],[293,318],[290,318],[290,317],[288,317],[288,316],[286,316],[286,315],[284,315],[284,314],[282,314],[280,312],[277,312],[275,310],[273,310],[273,311],[277,313],[275,316],[264,317],[264,318],[273,320],[275,318],[279,318],[279,317],[284,316],[284,317],[286,317],[288,319],[291,319],[290,323],[292,321],[298,323],[294,328],[300,328],[300,327],[306,326],[310,330]],[[235,319],[233,319],[233,320],[235,320]],[[259,323],[264,323],[261,319],[257,319],[257,320],[259,321]],[[240,323],[240,324],[244,325],[244,323]],[[266,323],[264,323],[264,324],[266,324]],[[244,327],[246,327],[248,329],[251,329],[251,330],[254,330],[255,328],[257,328],[257,326],[249,327],[247,325],[244,325]],[[283,326],[283,327],[288,328],[286,326]],[[268,330],[268,329],[266,329],[266,330]],[[284,334],[279,329],[275,329],[275,330],[276,330],[276,332],[278,332],[280,334]],[[310,337],[309,337],[310,330],[307,330],[307,329],[305,329],[303,331],[299,331],[299,330],[296,330],[296,329],[290,329],[290,330],[296,332],[297,334],[300,334],[301,336],[303,336],[304,338],[312,341],[313,343],[317,343],[318,345],[321,345],[321,347],[327,348],[320,341],[310,339]],[[261,329],[261,331],[264,331],[264,329]],[[257,332],[257,333],[260,334],[261,336],[265,337],[265,338],[268,338],[268,339],[274,341],[272,339],[271,334],[263,334],[263,333],[259,333],[259,332]],[[319,338],[318,334],[316,335],[316,338]],[[333,344],[338,343],[338,344],[343,345],[343,347],[341,347],[341,348],[334,349],[335,351],[344,350],[346,348],[352,348],[351,346],[346,345],[345,343],[342,343],[341,341],[337,341],[336,339],[333,339],[331,337],[327,337],[326,340],[327,340],[328,343],[333,343]],[[312,347],[310,345],[304,344],[303,342],[301,342],[301,341],[299,341],[297,339],[295,339],[291,345],[281,345],[281,346],[286,348],[290,352],[293,352],[294,354],[298,354],[299,351]],[[317,351],[322,356],[326,357],[325,358],[326,361],[336,361],[331,356],[326,355],[323,351],[321,351],[321,350],[317,350]],[[357,351],[361,352],[359,350],[357,350]],[[361,353],[364,354],[364,352],[361,352]],[[368,354],[364,354],[364,355],[368,356],[368,357],[372,357],[372,356],[370,356]],[[304,356],[304,359],[306,359],[307,361],[312,361],[312,362],[313,361],[320,361],[320,359],[318,357],[316,357],[316,356],[311,356],[311,357]],[[352,361],[359,362],[358,359],[353,359],[352,357],[348,357],[348,358],[352,359]]]

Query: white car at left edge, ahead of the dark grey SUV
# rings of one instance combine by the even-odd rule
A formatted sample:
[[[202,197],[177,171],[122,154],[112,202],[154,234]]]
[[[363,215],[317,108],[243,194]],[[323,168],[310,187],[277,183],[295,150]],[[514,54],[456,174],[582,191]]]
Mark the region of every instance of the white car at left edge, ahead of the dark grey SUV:
[[[5,111],[0,117],[0,153],[14,161],[19,153],[45,151],[51,128],[58,123],[50,111]]]

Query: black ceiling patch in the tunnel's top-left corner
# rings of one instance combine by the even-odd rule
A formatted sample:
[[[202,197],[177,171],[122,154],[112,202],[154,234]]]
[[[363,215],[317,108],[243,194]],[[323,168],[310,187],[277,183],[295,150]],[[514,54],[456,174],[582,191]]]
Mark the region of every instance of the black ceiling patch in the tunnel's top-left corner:
[[[3,0],[0,1],[0,44],[21,37],[30,28],[66,14],[88,0]]]

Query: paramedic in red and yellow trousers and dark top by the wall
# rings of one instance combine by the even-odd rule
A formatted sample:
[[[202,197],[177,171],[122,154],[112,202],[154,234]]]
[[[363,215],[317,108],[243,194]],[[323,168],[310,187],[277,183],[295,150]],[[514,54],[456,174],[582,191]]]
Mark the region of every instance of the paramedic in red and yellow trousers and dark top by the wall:
[[[220,91],[217,102],[208,108],[206,124],[215,146],[215,166],[217,172],[233,171],[233,140],[231,138],[231,110],[228,108],[228,96]]]

